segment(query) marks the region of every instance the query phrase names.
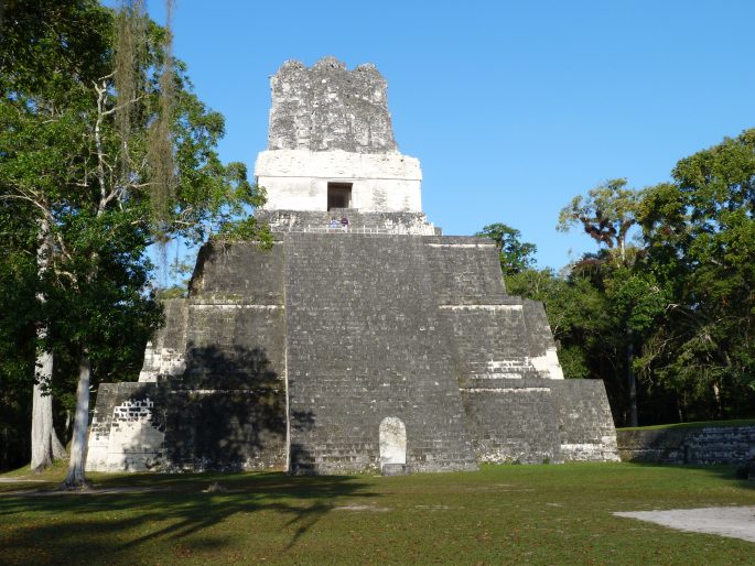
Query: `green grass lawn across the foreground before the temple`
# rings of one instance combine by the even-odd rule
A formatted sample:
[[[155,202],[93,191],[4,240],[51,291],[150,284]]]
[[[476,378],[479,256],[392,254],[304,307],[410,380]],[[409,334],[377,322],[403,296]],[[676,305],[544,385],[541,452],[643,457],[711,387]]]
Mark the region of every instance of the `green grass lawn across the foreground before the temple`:
[[[93,474],[99,492],[18,493],[53,488],[62,475],[0,482],[0,563],[755,562],[753,543],[612,515],[755,504],[755,485],[731,467],[485,466],[390,478]],[[19,478],[0,479],[9,476]],[[204,492],[212,482],[226,491]]]

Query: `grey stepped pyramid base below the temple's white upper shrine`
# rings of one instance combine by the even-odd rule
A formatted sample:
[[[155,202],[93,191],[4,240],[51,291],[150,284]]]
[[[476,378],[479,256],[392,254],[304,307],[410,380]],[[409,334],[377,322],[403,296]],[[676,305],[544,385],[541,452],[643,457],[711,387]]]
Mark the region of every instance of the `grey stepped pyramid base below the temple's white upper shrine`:
[[[155,382],[100,387],[90,469],[616,458],[603,384],[543,379],[559,375],[533,363],[552,347],[542,305],[506,295],[487,240],[292,229],[269,251],[205,246],[166,320],[154,342],[181,353],[183,372],[152,353],[144,374]],[[381,438],[387,428],[401,434]]]

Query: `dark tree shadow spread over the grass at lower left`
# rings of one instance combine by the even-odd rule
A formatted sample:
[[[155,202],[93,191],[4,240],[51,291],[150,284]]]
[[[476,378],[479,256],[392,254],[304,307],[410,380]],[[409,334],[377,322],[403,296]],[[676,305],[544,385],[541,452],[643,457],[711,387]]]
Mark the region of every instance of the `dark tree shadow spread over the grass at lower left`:
[[[214,482],[223,491],[204,492]],[[182,552],[239,552],[242,545],[249,547],[248,562],[256,548],[295,546],[344,499],[378,497],[359,478],[284,474],[100,477],[95,486],[157,490],[0,497],[2,560],[168,562]],[[274,522],[279,527],[271,541]],[[218,562],[230,558],[219,556]]]

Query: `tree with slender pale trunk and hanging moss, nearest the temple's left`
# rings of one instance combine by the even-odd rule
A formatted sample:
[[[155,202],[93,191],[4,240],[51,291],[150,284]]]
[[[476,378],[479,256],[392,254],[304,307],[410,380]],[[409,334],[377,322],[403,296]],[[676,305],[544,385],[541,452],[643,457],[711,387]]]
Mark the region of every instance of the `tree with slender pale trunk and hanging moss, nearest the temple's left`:
[[[17,2],[7,17],[20,21],[37,8],[34,2]],[[118,337],[109,328],[118,327],[119,320],[128,326],[125,320],[133,320],[134,312],[150,311],[142,292],[149,270],[145,248],[174,236],[190,241],[207,235],[269,240],[254,217],[239,219],[262,202],[262,195],[247,182],[244,165],[220,163],[215,145],[224,133],[222,116],[191,92],[184,66],[165,48],[170,33],[147,20],[141,9],[140,2],[130,2],[116,15],[94,0],[67,0],[35,14],[43,25],[30,29],[39,37],[23,35],[21,26],[0,44],[8,53],[31,43],[33,63],[41,57],[51,68],[75,68],[63,79],[56,74],[44,79],[36,63],[28,72],[18,67],[21,70],[3,83],[0,110],[6,120],[0,134],[0,200],[24,206],[44,226],[47,240],[40,239],[37,250],[44,241],[52,242],[45,271],[37,277],[45,281],[52,325],[41,341],[47,351],[75,352],[77,361],[66,487],[84,482],[91,370],[107,366],[118,352]],[[65,22],[63,29],[57,22]],[[123,26],[143,30],[143,43],[130,37],[132,46],[143,48],[131,50],[126,63],[118,58],[122,43],[114,51],[117,25],[121,33]],[[116,59],[130,69],[131,78],[123,81],[112,70],[120,68]],[[17,68],[19,57],[2,62],[4,76]],[[29,79],[22,79],[26,75]],[[163,96],[166,89],[170,104]],[[165,141],[169,156],[155,151],[155,143],[164,149]],[[165,174],[166,162],[172,163],[168,171],[173,175]],[[52,331],[53,327],[65,331]]]

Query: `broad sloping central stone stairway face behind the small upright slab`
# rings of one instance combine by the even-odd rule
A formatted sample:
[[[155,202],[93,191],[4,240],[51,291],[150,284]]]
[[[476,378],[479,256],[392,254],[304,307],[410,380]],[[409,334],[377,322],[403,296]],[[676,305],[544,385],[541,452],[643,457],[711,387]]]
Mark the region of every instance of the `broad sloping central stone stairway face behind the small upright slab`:
[[[409,470],[476,468],[422,238],[288,244],[292,471],[379,469],[386,417],[406,425]]]

